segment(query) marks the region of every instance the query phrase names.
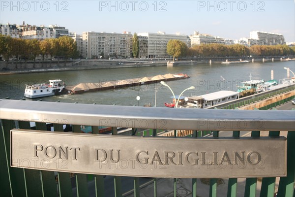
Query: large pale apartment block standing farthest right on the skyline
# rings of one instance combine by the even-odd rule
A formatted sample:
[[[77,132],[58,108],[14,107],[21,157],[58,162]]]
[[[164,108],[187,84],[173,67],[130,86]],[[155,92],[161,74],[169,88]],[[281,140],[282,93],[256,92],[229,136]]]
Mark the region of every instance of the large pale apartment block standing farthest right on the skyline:
[[[263,45],[286,44],[284,35],[280,33],[250,32],[250,38],[263,42]]]

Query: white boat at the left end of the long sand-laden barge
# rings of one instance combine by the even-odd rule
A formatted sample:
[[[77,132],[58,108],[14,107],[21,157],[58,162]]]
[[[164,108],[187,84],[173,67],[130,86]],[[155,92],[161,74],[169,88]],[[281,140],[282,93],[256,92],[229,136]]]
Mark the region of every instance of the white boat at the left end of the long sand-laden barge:
[[[49,84],[27,85],[24,96],[30,99],[62,94],[65,84],[60,79],[49,80]]]

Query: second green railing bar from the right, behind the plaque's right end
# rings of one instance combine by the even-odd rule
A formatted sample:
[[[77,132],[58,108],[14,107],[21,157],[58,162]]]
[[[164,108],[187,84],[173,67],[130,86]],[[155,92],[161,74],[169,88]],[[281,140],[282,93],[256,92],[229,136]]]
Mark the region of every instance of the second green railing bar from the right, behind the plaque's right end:
[[[269,131],[268,136],[280,136],[280,131]],[[273,197],[275,189],[275,177],[266,177],[262,179],[261,197]]]

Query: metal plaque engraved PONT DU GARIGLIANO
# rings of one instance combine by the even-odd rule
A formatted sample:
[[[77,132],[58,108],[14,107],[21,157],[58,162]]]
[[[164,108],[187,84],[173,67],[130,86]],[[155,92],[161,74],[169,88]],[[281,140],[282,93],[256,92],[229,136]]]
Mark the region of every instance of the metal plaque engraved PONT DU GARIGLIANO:
[[[11,166],[141,177],[287,174],[285,137],[170,138],[11,130]]]

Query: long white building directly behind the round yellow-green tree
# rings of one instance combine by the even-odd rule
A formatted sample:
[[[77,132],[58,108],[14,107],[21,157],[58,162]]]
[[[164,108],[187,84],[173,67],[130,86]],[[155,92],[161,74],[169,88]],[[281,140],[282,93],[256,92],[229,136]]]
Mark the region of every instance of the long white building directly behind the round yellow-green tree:
[[[140,36],[148,37],[148,58],[166,58],[167,43],[171,39],[177,39],[186,43],[187,47],[191,46],[190,38],[187,35],[158,33],[138,33]]]

